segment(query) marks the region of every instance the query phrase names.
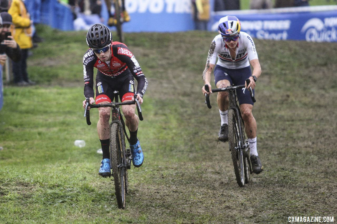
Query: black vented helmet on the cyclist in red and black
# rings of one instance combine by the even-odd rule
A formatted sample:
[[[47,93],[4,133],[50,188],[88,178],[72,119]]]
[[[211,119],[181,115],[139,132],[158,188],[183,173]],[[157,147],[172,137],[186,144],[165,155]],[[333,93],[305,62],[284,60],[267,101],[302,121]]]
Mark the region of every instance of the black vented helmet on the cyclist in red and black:
[[[99,49],[110,44],[112,34],[104,24],[96,23],[90,27],[87,33],[87,44],[90,48]]]

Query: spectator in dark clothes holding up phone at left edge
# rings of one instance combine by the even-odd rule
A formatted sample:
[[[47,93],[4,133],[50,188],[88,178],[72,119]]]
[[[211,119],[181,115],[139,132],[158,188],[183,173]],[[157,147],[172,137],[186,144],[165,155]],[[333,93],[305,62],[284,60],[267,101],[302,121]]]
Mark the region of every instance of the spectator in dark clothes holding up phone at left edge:
[[[0,28],[0,64],[4,65],[7,56],[15,61],[20,61],[21,49],[11,35],[12,16],[8,12],[1,12],[2,26]]]

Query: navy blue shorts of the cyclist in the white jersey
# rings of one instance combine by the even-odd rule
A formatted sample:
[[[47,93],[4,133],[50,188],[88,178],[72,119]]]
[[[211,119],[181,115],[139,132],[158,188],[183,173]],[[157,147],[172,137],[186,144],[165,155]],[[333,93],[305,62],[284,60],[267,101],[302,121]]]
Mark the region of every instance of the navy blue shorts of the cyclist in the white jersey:
[[[245,84],[245,80],[251,76],[252,72],[250,70],[250,66],[240,69],[228,69],[222,66],[216,65],[214,68],[214,77],[215,77],[215,85],[220,80],[228,80],[231,85],[243,85]],[[253,92],[254,89],[253,89]],[[254,105],[250,92],[248,89],[237,89],[236,94],[239,100],[239,104],[251,104]]]

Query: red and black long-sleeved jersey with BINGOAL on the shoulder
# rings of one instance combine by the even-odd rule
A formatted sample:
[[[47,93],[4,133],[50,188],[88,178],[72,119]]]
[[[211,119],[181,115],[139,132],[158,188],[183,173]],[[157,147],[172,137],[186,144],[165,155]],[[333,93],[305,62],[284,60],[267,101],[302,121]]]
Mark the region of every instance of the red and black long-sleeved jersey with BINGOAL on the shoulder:
[[[97,58],[91,48],[83,56],[83,78],[84,78],[84,96],[94,97],[94,67],[97,68],[97,75],[104,75],[113,78],[129,75],[130,72],[137,80],[137,93],[145,94],[148,81],[143,74],[142,68],[127,46],[120,42],[111,42],[111,60],[102,62]]]

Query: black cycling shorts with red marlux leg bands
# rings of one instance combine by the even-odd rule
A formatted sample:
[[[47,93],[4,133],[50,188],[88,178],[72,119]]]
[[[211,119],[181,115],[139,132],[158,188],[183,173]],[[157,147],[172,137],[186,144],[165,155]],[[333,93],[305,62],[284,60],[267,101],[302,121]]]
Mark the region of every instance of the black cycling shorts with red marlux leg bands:
[[[118,77],[112,78],[105,75],[96,75],[96,104],[114,100],[114,91],[119,92],[121,102],[131,100],[136,90],[134,88],[134,80],[131,72],[129,74],[120,74]]]

